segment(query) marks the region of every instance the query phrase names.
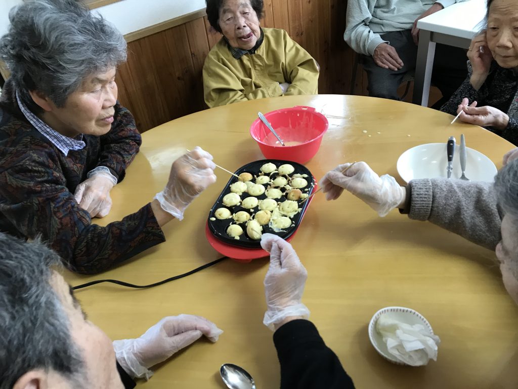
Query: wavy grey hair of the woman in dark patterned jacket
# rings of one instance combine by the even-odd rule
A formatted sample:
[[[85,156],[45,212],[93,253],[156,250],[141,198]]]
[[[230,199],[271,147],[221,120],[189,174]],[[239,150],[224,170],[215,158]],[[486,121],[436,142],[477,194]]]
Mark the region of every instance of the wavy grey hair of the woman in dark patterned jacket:
[[[122,34],[76,0],[26,0],[10,10],[9,21],[0,39],[0,59],[33,112],[41,109],[29,91],[63,107],[85,78],[126,60]]]

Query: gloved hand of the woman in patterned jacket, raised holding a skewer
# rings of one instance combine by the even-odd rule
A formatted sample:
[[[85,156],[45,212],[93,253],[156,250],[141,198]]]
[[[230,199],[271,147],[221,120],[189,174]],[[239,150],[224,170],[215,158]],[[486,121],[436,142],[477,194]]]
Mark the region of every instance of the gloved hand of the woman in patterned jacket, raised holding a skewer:
[[[154,198],[164,211],[182,220],[187,206],[216,182],[215,168],[212,156],[196,146],[172,163],[167,185]]]

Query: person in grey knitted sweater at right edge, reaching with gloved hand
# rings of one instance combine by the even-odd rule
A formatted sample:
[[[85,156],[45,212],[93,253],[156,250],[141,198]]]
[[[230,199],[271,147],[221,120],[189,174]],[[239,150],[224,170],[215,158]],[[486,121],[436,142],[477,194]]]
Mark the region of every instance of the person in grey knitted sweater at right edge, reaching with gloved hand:
[[[388,174],[378,176],[365,162],[345,173],[349,164],[339,165],[321,184],[327,200],[336,200],[346,189],[380,216],[397,207],[411,219],[428,220],[496,251],[503,284],[518,304],[518,159],[509,156],[494,184],[427,178],[400,186]]]

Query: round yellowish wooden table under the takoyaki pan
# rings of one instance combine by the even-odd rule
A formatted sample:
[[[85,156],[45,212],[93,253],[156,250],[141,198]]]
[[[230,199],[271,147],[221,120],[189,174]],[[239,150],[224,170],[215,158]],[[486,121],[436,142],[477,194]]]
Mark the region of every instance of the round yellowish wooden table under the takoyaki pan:
[[[313,106],[329,119],[318,154],[307,163],[320,179],[346,161],[366,161],[403,184],[396,161],[406,149],[457,140],[492,159],[497,168],[514,146],[451,115],[391,100],[319,95],[263,99],[208,109],[142,134],[140,153],[111,192],[106,225],[149,202],[166,183],[171,162],[201,146],[234,171],[264,158],[249,134],[263,113]],[[367,132],[364,132],[367,131]],[[73,285],[99,278],[149,284],[219,258],[205,238],[208,212],[229,175],[194,201],[183,221],[164,228],[165,243],[97,276],[67,273]],[[518,376],[518,309],[502,285],[495,255],[430,223],[392,211],[384,218],[349,193],[333,202],[316,195],[292,241],[308,270],[304,303],[327,345],[358,388],[515,388]],[[205,316],[225,332],[217,343],[200,340],[161,364],[143,387],[224,388],[223,363],[247,369],[256,387],[279,387],[272,332],[262,324],[267,259],[226,259],[181,280],[143,290],[102,284],[77,291],[92,322],[112,339],[140,336],[166,315]],[[393,365],[367,335],[371,316],[389,305],[423,314],[441,338],[437,362],[420,368]]]

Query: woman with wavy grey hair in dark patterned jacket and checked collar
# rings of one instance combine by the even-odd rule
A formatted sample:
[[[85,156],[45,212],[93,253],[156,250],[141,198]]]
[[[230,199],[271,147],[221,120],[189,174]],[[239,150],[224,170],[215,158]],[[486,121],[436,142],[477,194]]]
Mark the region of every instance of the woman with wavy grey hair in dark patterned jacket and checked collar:
[[[9,13],[0,59],[0,231],[40,235],[72,270],[103,271],[165,240],[161,227],[215,181],[195,148],[171,166],[165,189],[138,212],[91,224],[111,206],[141,137],[117,102],[122,34],[75,0],[27,0]]]

